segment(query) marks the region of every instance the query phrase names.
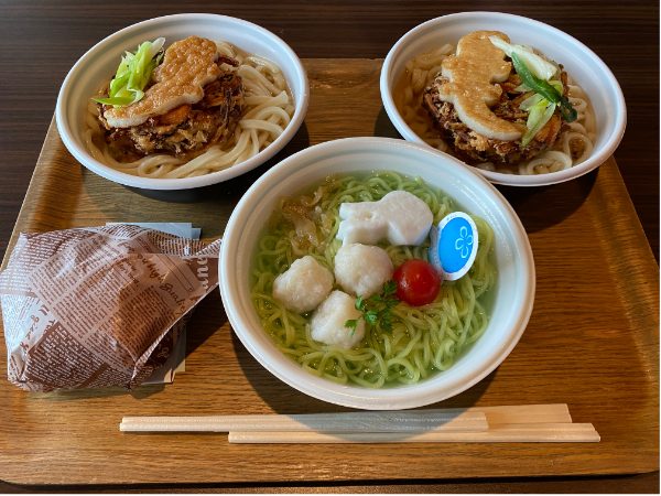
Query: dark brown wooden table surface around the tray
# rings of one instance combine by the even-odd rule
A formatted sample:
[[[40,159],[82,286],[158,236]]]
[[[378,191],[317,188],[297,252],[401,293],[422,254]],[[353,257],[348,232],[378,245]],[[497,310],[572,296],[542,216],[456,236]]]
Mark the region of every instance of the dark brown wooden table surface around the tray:
[[[178,12],[215,12],[256,22],[284,39],[305,58],[382,58],[397,39],[427,19],[465,10],[498,10],[552,24],[590,46],[618,78],[628,127],[617,164],[654,257],[659,257],[659,8],[655,2],[0,2],[0,256],[3,255],[34,170],[59,85],[89,46],[131,23]],[[55,490],[0,482],[0,492]],[[59,487],[62,490],[86,488]],[[131,487],[95,487],[95,492]],[[391,485],[174,486],[155,492],[322,493],[658,493],[659,473],[635,476],[522,479],[393,481]]]

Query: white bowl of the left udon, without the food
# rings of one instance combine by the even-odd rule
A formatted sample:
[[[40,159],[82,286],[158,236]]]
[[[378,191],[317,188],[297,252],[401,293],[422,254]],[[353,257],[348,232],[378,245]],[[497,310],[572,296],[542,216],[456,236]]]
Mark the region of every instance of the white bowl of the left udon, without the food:
[[[227,41],[239,48],[263,56],[283,72],[292,91],[295,111],[284,132],[269,147],[245,162],[196,177],[137,177],[95,160],[85,147],[85,112],[89,97],[117,71],[124,51],[134,51],[147,40],[165,37],[169,45],[189,35]],[[280,151],[296,133],[307,111],[307,76],[296,54],[280,37],[250,22],[225,15],[186,13],[150,19],[118,31],[93,46],[72,67],[59,95],[55,116],[57,130],[68,151],[93,172],[120,184],[148,190],[187,190],[219,183],[261,165]]]

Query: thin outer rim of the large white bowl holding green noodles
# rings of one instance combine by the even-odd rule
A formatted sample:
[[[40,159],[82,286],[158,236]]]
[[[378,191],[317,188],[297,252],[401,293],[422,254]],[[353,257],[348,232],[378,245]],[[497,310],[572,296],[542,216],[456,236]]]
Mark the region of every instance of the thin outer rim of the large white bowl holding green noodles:
[[[486,188],[491,194],[490,200],[495,201],[501,207],[501,214],[508,224],[509,230],[512,233],[512,246],[517,249],[516,259],[520,263],[517,284],[520,284],[520,288],[522,288],[520,291],[528,294],[529,298],[511,314],[514,325],[505,331],[508,339],[507,343],[500,346],[497,353],[490,353],[490,360],[487,364],[480,364],[479,367],[467,367],[468,375],[470,376],[469,379],[462,379],[460,381],[455,379],[451,388],[444,384],[436,385],[434,378],[413,386],[369,389],[351,385],[337,385],[330,380],[315,377],[303,370],[299,364],[289,360],[281,351],[277,349],[261,327],[259,330],[247,328],[247,323],[243,321],[241,314],[245,312],[254,312],[254,310],[248,303],[245,303],[243,298],[238,294],[235,295],[240,284],[239,280],[245,274],[238,274],[238,265],[232,254],[236,254],[239,247],[242,247],[243,252],[246,251],[246,247],[241,244],[241,233],[243,231],[245,224],[253,215],[251,207],[253,203],[269,195],[269,190],[281,183],[290,172],[300,173],[311,162],[322,161],[332,153],[347,155],[351,152],[369,152],[379,147],[394,147],[407,149],[411,153],[429,154],[436,159],[442,158],[448,162],[448,166],[456,166],[456,174],[459,176],[465,175],[470,177],[470,181],[476,181],[475,184],[480,193],[483,188]],[[303,162],[303,164],[295,166],[296,162]],[[330,403],[364,410],[393,410],[422,407],[455,396],[483,380],[505,360],[521,338],[532,313],[537,283],[532,249],[523,225],[509,202],[492,184],[447,154],[400,139],[376,137],[345,138],[315,144],[284,159],[259,177],[241,197],[227,223],[220,247],[218,272],[219,291],[231,328],[258,363],[280,380],[307,396]],[[257,339],[251,338],[251,333],[254,334],[258,332],[262,332],[263,335],[258,335]],[[401,391],[404,390],[407,396],[402,397]]]

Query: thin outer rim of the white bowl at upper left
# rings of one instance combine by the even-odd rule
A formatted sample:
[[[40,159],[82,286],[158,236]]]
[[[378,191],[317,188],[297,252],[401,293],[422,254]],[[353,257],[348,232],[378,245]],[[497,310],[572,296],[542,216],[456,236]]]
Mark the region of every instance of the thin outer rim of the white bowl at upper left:
[[[153,25],[159,25],[162,23],[172,23],[172,22],[202,22],[202,21],[219,21],[223,23],[232,23],[241,26],[246,26],[250,31],[259,33],[260,37],[263,36],[264,40],[268,40],[268,43],[271,46],[278,46],[279,51],[282,51],[286,58],[289,58],[294,67],[294,79],[291,83],[295,83],[301,86],[302,93],[301,95],[296,95],[294,97],[294,114],[291,118],[290,123],[284,129],[284,131],[267,148],[261,150],[257,155],[251,157],[250,159],[235,164],[230,168],[224,169],[221,171],[212,172],[209,174],[204,174],[199,176],[193,177],[181,177],[181,179],[155,179],[155,177],[143,177],[127,174],[124,172],[118,171],[116,169],[110,168],[109,165],[99,162],[85,148],[84,143],[78,143],[75,139],[75,132],[73,131],[74,127],[72,122],[67,119],[67,103],[74,96],[73,88],[75,86],[78,74],[88,65],[93,63],[96,54],[100,53],[104,50],[104,46],[121,40],[127,36],[129,33],[134,31],[140,31],[144,29],[149,29]],[[292,85],[290,85],[292,86]],[[293,93],[293,91],[292,91]],[[294,96],[294,95],[292,95]],[[130,24],[126,28],[122,28],[119,31],[116,31],[102,40],[98,41],[90,48],[88,48],[72,66],[68,71],[67,75],[64,78],[64,82],[59,88],[57,94],[57,101],[55,105],[55,122],[57,126],[57,131],[64,142],[65,147],[69,151],[69,153],[85,168],[95,172],[96,174],[110,180],[112,182],[122,184],[124,186],[138,187],[144,190],[191,190],[196,187],[208,186],[212,184],[217,184],[220,182],[228,181],[238,175],[247,173],[260,165],[262,165],[266,161],[273,158],[279,151],[284,148],[284,145],[291,141],[294,134],[299,131],[300,127],[303,123],[305,115],[307,114],[307,108],[310,105],[310,83],[307,78],[307,73],[296,53],[292,50],[292,47],[280,36],[274,34],[273,32],[262,28],[259,24],[254,24],[250,21],[246,21],[243,19],[234,18],[230,15],[223,14],[214,14],[214,13],[175,13],[169,15],[162,15],[158,18],[147,19],[144,21],[140,21],[133,24]]]

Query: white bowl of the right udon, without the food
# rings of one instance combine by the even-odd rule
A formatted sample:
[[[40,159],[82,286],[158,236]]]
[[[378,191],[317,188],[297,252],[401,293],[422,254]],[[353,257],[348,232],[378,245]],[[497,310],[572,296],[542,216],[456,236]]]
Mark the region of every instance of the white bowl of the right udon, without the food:
[[[390,120],[404,139],[425,144],[404,122],[392,97],[394,85],[403,74],[407,62],[445,43],[456,46],[464,34],[477,30],[501,31],[512,43],[533,46],[563,64],[589,96],[597,122],[595,148],[590,157],[578,165],[538,175],[479,170],[480,174],[496,184],[541,186],[586,174],[613,154],[625,132],[627,109],[622,91],[610,69],[592,50],[568,34],[532,19],[499,12],[462,12],[432,19],[413,28],[392,46],[381,69],[381,99]]]

